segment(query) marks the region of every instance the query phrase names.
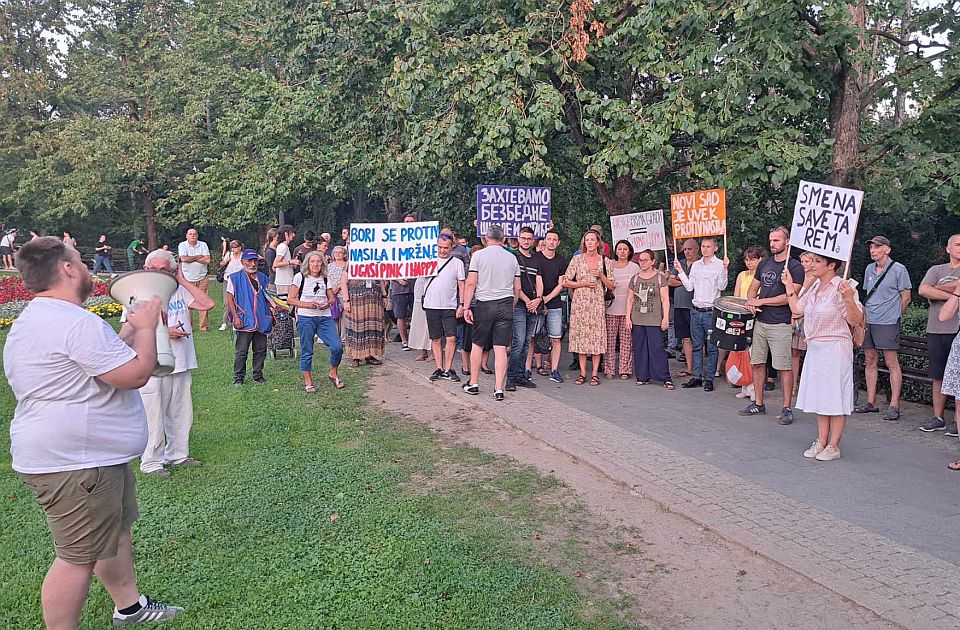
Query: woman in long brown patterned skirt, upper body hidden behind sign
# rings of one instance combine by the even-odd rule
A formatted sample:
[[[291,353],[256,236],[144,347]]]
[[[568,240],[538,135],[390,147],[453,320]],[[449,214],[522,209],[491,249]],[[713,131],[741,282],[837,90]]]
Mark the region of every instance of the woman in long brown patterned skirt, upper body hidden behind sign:
[[[367,365],[382,365],[383,313],[387,288],[381,280],[352,280],[344,271],[340,293],[343,301],[344,328],[347,331],[347,354],[354,367],[364,361]]]

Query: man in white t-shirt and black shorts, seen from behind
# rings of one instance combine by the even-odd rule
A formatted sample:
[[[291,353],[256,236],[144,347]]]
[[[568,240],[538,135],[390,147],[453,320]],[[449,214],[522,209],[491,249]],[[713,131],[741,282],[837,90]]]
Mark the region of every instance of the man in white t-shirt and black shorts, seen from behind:
[[[487,246],[470,258],[470,271],[464,287],[463,317],[473,325],[473,349],[470,352],[470,382],[463,391],[479,394],[480,362],[483,349],[493,346],[494,400],[503,400],[507,380],[507,346],[513,340],[513,306],[520,293],[520,264],[503,247],[503,228],[493,224],[487,230]],[[476,296],[477,302],[473,304]]]

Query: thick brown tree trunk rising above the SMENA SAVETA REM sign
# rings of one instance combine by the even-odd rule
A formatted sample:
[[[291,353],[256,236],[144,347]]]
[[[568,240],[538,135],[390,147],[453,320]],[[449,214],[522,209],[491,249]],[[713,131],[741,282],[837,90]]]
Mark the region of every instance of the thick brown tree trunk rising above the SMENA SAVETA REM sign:
[[[856,186],[857,158],[860,152],[860,99],[863,64],[860,61],[866,49],[864,31],[867,9],[861,1],[847,4],[848,23],[859,30],[856,50],[844,50],[833,72],[833,93],[830,96],[830,137],[834,140],[830,160],[831,186]]]

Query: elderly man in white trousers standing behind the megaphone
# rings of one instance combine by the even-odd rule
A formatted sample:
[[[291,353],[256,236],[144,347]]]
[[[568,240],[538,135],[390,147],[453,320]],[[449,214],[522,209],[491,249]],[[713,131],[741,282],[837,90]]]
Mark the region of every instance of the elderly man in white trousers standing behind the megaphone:
[[[193,426],[191,371],[197,367],[190,311],[205,314],[213,308],[213,299],[184,277],[182,267],[166,250],[158,249],[147,254],[143,268],[169,273],[180,283],[167,306],[167,328],[176,366],[172,374],[151,377],[140,388],[140,398],[147,411],[147,448],[140,458],[140,470],[153,477],[169,477],[170,471],[164,465],[171,468],[200,465],[190,457],[189,446],[190,427]],[[124,328],[127,326],[124,324]],[[121,336],[126,332],[124,328],[120,329]]]

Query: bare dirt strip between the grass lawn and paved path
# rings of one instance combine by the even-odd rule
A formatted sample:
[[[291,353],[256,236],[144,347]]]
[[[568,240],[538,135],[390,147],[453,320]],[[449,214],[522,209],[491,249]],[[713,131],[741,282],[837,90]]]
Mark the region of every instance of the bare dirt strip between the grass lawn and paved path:
[[[570,554],[544,546],[545,561],[576,575],[585,596],[614,601],[647,627],[897,627],[665,512],[506,422],[479,414],[468,398],[434,387],[419,375],[381,369],[370,385],[373,405],[425,423],[443,440],[506,455],[563,482],[586,509],[576,519],[558,523],[550,535],[575,543],[578,561],[572,565]]]

